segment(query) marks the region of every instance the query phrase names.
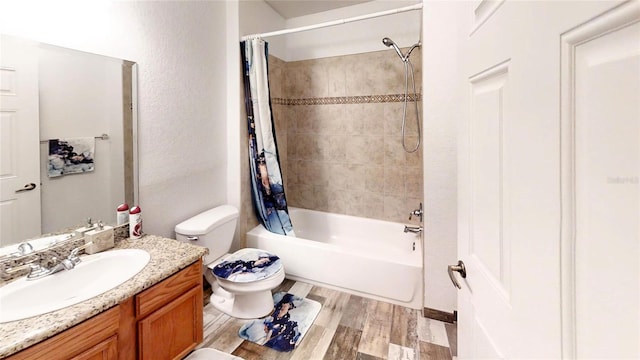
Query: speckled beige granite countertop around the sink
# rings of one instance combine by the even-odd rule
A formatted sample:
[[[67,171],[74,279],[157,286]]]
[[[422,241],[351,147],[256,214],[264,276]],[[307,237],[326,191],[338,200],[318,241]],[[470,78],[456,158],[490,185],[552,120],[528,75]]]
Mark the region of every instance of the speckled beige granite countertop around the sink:
[[[133,278],[102,295],[48,314],[0,324],[0,359],[121,303],[193,264],[208,252],[204,247],[153,235],[138,240],[120,240],[114,249],[146,250],[151,259]]]

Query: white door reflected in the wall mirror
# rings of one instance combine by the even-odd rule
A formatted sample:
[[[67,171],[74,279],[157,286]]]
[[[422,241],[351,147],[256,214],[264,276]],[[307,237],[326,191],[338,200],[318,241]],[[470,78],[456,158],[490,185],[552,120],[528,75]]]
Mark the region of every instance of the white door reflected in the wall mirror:
[[[41,233],[37,55],[0,38],[0,246]]]

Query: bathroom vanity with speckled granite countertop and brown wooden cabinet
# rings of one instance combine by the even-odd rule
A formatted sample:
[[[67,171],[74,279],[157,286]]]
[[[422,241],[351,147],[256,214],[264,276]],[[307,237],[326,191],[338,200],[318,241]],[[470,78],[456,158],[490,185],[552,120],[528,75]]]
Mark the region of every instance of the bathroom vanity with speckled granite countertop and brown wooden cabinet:
[[[0,324],[0,359],[180,359],[195,348],[202,341],[207,249],[151,235],[116,248],[142,249],[151,259],[90,300]]]

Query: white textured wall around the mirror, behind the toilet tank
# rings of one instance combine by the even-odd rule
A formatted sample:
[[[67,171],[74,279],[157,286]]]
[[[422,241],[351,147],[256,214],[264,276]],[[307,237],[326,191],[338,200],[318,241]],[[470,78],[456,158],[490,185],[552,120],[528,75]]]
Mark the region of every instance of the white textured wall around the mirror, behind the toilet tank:
[[[0,32],[139,65],[144,231],[226,202],[226,3],[2,1]],[[115,209],[114,209],[115,211]]]

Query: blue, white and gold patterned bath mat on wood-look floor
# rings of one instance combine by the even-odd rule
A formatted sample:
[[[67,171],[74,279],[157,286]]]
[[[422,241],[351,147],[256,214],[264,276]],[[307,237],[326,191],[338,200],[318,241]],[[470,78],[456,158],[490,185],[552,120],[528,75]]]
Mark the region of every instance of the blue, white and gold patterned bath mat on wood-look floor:
[[[277,351],[291,351],[302,341],[322,305],[285,292],[273,294],[273,304],[269,316],[244,324],[238,335]]]

